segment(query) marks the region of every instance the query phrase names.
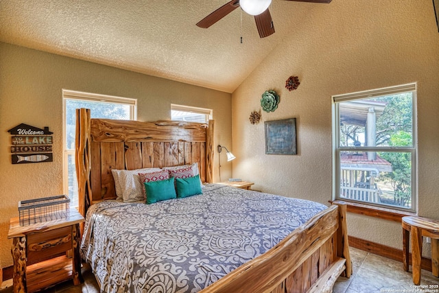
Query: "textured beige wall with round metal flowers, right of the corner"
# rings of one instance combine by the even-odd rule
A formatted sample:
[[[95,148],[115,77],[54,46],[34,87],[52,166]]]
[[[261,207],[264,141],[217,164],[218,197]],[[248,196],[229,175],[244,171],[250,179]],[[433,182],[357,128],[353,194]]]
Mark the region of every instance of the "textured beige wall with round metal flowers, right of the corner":
[[[328,204],[331,95],[418,82],[418,212],[439,219],[439,34],[431,1],[334,0],[311,12],[233,93],[233,176]],[[300,79],[292,92],[290,75]],[[251,125],[268,89],[281,95],[279,107]],[[289,117],[296,117],[298,154],[266,155],[264,121]],[[349,214],[348,233],[402,247],[396,222]]]

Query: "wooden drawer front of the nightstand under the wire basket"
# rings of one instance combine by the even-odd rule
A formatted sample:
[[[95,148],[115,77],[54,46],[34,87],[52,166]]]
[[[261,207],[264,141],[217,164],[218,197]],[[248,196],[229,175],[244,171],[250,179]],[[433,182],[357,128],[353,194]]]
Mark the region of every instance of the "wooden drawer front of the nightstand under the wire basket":
[[[71,226],[27,235],[27,264],[37,263],[71,249]]]

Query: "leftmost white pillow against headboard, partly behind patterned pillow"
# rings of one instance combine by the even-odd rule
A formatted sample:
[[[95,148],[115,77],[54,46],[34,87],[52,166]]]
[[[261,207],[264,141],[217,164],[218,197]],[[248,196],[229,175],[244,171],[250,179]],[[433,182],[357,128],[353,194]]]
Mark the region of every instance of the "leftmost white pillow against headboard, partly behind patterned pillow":
[[[144,168],[134,170],[112,169],[111,173],[115,179],[115,189],[117,199],[123,202],[137,202],[145,200],[145,194],[142,192],[142,185],[139,173],[151,173],[161,171],[161,168]]]

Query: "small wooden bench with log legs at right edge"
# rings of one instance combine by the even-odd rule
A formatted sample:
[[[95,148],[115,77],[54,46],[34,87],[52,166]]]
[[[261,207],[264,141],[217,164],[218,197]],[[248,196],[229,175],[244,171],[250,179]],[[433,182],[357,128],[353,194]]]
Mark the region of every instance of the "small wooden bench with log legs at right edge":
[[[412,233],[413,283],[420,285],[420,260],[423,253],[423,237],[431,238],[431,272],[439,277],[439,221],[422,217],[403,217],[403,266],[409,270],[409,241]]]

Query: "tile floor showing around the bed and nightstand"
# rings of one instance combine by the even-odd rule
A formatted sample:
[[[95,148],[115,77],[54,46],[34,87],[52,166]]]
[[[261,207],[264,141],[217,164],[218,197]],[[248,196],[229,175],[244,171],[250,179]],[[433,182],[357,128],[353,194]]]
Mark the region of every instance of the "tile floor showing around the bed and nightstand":
[[[439,292],[439,288],[416,288],[412,283],[412,272],[405,272],[399,261],[386,259],[366,251],[351,248],[353,275],[350,279],[340,277],[334,285],[334,293],[375,293],[375,292]],[[45,290],[48,293],[97,293],[99,287],[89,266],[82,268],[82,285],[73,286],[66,281],[54,288]],[[421,285],[438,285],[439,278],[431,272],[422,271]],[[3,282],[0,293],[12,292],[12,280]]]

